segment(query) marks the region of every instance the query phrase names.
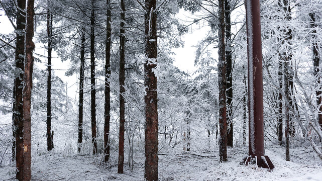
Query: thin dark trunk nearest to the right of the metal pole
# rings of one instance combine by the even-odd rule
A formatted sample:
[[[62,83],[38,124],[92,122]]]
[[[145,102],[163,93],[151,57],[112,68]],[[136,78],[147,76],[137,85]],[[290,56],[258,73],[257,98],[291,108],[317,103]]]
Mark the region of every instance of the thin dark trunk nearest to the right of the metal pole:
[[[279,56],[280,57],[280,56]],[[283,88],[283,62],[278,60],[278,82],[280,89]],[[278,122],[277,122],[278,144],[282,145],[283,141],[283,96],[278,94]]]

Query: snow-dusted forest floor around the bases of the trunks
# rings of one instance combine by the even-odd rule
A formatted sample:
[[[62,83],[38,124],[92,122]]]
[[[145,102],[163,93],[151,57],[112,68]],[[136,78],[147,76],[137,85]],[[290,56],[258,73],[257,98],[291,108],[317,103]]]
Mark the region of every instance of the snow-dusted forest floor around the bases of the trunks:
[[[284,147],[266,145],[266,155],[275,169],[241,165],[248,147],[228,149],[228,161],[219,163],[218,152],[202,153],[216,157],[159,155],[160,180],[322,180],[322,162],[311,147],[292,145],[291,161],[285,161]],[[201,154],[201,153],[199,153]],[[127,157],[125,157],[127,158]],[[117,154],[107,164],[92,155],[44,154],[33,158],[32,180],[144,180],[143,153],[135,154],[133,171],[127,159],[125,173],[117,173]],[[15,180],[15,163],[0,167],[0,180]]]

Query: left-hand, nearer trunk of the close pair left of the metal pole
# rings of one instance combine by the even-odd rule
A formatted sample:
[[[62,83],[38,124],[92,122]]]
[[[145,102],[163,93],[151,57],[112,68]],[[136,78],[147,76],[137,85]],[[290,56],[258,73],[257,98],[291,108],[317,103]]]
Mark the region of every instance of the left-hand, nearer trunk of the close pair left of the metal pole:
[[[225,2],[218,3],[219,159],[227,160]]]

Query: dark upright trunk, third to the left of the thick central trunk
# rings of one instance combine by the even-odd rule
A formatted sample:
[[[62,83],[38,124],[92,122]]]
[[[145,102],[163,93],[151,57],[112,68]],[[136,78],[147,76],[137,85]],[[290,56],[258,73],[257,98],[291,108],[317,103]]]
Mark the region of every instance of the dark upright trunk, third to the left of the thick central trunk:
[[[95,0],[91,0],[90,15],[90,117],[93,154],[96,154],[96,87],[95,87]]]

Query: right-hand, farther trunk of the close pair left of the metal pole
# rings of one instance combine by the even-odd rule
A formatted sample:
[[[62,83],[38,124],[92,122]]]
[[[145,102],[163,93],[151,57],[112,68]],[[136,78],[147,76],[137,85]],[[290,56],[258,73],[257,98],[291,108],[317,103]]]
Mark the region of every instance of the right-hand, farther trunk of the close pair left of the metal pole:
[[[231,46],[231,7],[230,0],[225,0],[225,23],[226,23],[226,79],[227,79],[227,146],[233,147],[233,64],[232,64],[232,46]]]

